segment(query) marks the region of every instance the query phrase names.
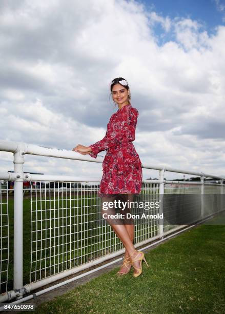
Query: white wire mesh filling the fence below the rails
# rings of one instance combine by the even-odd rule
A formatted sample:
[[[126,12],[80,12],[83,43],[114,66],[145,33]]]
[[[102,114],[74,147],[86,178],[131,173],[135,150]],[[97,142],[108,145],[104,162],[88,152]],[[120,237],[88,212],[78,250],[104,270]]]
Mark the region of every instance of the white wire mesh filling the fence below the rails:
[[[171,232],[181,226],[176,224],[180,214],[190,215],[191,212],[193,221],[202,218],[202,199],[183,198],[183,195],[199,197],[202,194],[200,183],[145,182],[134,201],[138,204],[159,202],[162,196],[159,193],[160,184],[164,187],[163,232]],[[98,188],[98,182],[30,182],[24,194],[24,284],[51,277],[122,249],[122,243],[111,226],[96,223],[101,210]],[[213,195],[213,199],[203,201],[206,217],[221,208],[219,193],[224,192],[224,186],[204,184],[203,188],[206,195]],[[7,182],[0,181],[1,293],[12,288],[13,279],[13,189],[10,192]],[[188,207],[187,200],[190,203]],[[157,208],[151,209],[151,214],[157,212]],[[134,243],[157,237],[159,225],[158,219],[135,220]]]

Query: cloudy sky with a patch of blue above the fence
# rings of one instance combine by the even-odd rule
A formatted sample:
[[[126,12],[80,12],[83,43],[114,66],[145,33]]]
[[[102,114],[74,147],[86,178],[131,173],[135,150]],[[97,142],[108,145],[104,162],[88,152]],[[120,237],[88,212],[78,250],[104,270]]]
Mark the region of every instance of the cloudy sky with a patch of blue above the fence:
[[[224,176],[224,51],[222,0],[1,0],[0,139],[94,144],[118,109],[110,82],[124,77],[143,164]],[[0,152],[0,171],[12,161]],[[101,164],[34,155],[24,171],[102,175]]]

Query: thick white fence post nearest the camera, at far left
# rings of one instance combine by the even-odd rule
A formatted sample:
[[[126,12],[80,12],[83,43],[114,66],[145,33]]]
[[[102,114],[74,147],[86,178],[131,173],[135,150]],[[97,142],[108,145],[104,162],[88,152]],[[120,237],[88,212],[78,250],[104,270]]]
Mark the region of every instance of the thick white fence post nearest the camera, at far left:
[[[18,144],[14,155],[14,258],[13,258],[13,289],[23,288],[23,164],[24,155],[22,145]],[[22,298],[19,295],[17,299]]]

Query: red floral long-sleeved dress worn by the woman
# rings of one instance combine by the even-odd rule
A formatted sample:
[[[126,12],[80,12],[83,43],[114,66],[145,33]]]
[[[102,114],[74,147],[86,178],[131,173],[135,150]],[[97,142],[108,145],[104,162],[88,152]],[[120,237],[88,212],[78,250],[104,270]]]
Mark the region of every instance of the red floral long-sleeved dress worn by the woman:
[[[98,191],[99,197],[108,194],[140,193],[141,161],[132,143],[135,140],[137,117],[138,111],[131,104],[118,109],[110,117],[103,140],[89,145],[93,158],[97,157],[98,152],[107,151],[102,165],[103,178]]]

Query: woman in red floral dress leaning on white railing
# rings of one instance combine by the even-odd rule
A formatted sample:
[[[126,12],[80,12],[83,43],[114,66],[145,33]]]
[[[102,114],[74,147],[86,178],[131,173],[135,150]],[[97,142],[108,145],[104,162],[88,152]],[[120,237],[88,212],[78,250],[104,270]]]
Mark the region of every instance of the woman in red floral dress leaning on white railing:
[[[132,143],[135,140],[138,111],[131,106],[130,88],[124,78],[114,78],[110,90],[118,110],[110,117],[105,137],[90,146],[78,144],[73,150],[83,155],[90,154],[93,158],[97,157],[98,152],[106,150],[98,195],[103,204],[115,200],[129,204],[133,201],[134,194],[140,193],[142,183],[141,161]],[[122,213],[126,217],[128,212],[129,206],[126,205],[126,210]],[[104,213],[104,208],[101,213]],[[111,213],[115,213],[114,208],[110,208]],[[134,248],[133,221],[126,220],[123,224],[115,219],[107,221],[126,248],[124,262],[117,274],[126,274],[133,266],[133,276],[138,277],[142,272],[142,260],[146,260],[144,253]]]

